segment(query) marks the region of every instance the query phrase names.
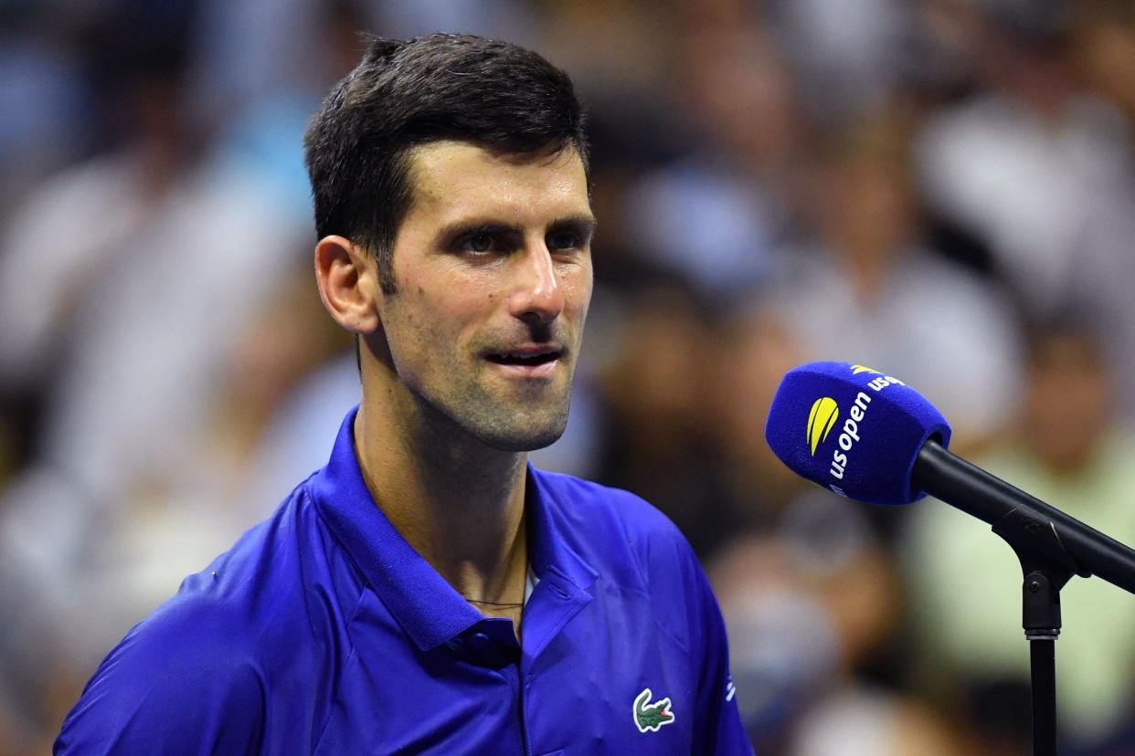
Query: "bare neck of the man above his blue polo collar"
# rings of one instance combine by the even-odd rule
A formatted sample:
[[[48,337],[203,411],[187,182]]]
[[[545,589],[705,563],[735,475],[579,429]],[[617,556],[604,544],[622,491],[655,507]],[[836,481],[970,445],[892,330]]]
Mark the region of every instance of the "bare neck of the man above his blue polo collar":
[[[406,427],[384,409],[364,399],[354,425],[371,496],[454,589],[486,614],[508,615],[493,605],[523,602],[528,456],[488,449],[460,430]]]

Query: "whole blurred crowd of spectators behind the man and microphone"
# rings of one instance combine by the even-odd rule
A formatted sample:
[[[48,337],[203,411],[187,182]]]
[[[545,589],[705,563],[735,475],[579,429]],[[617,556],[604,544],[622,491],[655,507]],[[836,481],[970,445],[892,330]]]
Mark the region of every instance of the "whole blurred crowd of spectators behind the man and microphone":
[[[1026,753],[1012,551],[794,478],[764,422],[792,366],[869,365],[1135,544],[1132,0],[0,0],[0,755],[360,398],[301,136],[362,29],[575,79],[596,289],[535,459],[684,530],[757,753]],[[1135,754],[1135,596],[1062,605],[1060,753]]]

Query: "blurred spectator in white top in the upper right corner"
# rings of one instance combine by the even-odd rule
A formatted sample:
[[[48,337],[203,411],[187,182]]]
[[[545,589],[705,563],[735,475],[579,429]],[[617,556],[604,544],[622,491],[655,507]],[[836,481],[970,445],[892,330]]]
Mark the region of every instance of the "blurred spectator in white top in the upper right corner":
[[[1092,204],[1121,185],[1128,134],[1075,76],[1062,3],[995,5],[973,29],[985,88],[931,118],[919,180],[936,214],[989,244],[1023,307],[1046,314]]]

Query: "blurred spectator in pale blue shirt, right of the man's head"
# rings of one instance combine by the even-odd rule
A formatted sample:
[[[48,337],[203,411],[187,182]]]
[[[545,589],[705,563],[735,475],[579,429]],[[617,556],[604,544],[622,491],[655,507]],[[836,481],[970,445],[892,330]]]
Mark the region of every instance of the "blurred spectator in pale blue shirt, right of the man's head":
[[[695,141],[629,188],[627,224],[640,256],[735,298],[768,279],[790,228],[802,136],[794,94],[759,19],[705,23],[678,52],[682,86],[671,96]]]

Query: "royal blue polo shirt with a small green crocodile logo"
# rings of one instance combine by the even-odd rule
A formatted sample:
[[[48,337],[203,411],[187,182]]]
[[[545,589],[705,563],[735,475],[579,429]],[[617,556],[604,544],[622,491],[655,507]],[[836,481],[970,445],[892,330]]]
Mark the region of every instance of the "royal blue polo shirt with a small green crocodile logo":
[[[390,525],[354,453],[102,662],[57,754],[750,754],[692,551],[624,491],[529,467],[523,644]]]

